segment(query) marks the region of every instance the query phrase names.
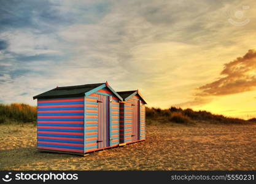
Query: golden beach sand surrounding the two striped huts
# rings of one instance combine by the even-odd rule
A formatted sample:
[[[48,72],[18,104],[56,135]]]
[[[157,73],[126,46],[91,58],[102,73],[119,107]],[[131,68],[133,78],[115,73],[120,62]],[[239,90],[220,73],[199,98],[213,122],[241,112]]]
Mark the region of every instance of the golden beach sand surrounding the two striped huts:
[[[145,142],[85,157],[36,150],[36,126],[0,125],[0,170],[255,170],[256,125],[147,126]]]

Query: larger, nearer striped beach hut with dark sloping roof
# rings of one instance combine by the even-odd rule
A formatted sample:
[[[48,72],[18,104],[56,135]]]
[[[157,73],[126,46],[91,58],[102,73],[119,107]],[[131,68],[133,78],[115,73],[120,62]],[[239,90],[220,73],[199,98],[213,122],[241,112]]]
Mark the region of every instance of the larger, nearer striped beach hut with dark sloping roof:
[[[83,155],[119,144],[119,101],[108,83],[56,87],[37,99],[37,148]]]

